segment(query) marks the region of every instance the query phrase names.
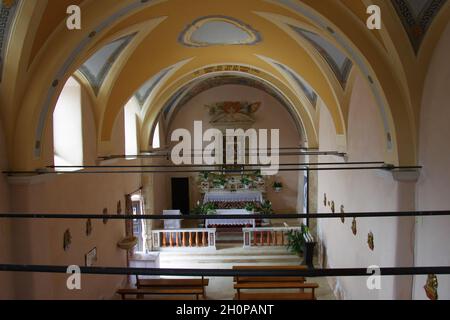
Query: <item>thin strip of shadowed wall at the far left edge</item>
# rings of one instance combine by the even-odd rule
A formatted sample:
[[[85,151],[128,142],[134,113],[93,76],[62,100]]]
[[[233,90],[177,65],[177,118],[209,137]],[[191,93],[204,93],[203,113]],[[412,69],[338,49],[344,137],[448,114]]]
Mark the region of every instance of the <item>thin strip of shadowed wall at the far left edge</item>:
[[[8,169],[6,146],[0,119],[0,172]],[[0,212],[10,211],[9,185],[5,175],[0,175]],[[9,220],[0,220],[0,263],[11,263],[11,225]],[[0,299],[13,298],[12,274],[0,272]]]

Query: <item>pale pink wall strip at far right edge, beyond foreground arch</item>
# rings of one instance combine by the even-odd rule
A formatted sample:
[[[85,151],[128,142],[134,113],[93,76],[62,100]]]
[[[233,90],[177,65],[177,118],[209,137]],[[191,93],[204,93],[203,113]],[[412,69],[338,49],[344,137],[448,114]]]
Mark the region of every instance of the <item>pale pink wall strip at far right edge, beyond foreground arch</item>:
[[[435,50],[428,72],[420,122],[419,162],[423,166],[417,184],[418,210],[450,209],[450,24]],[[450,265],[450,217],[418,218],[417,266]],[[439,276],[440,299],[450,299],[450,276]],[[426,299],[426,276],[414,281],[414,298]]]

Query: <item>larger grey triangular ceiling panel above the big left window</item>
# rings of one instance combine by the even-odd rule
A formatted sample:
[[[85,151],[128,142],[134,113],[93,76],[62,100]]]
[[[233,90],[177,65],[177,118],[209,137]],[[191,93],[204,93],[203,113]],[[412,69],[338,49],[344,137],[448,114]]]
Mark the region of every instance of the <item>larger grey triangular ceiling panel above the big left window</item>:
[[[117,58],[134,38],[134,34],[119,38],[94,53],[79,69],[97,95]]]

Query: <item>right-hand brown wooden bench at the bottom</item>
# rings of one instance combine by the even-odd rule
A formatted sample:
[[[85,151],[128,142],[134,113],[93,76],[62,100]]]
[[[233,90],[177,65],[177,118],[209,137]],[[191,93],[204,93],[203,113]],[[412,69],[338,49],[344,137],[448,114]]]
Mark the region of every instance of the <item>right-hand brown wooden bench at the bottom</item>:
[[[237,290],[237,295],[235,296],[236,300],[249,300],[246,299],[246,297],[249,297],[249,295],[251,296],[253,294],[248,292],[243,293],[241,292],[242,289],[256,289],[256,290],[300,289],[301,292],[294,292],[294,293],[264,292],[259,293],[258,295],[268,295],[270,297],[273,297],[274,295],[280,295],[280,297],[275,300],[285,300],[284,298],[286,297],[286,295],[291,297],[288,300],[315,300],[316,299],[315,289],[319,288],[319,285],[317,283],[304,283],[304,282],[246,282],[246,283],[237,283],[234,285],[234,288]],[[311,292],[304,292],[305,289],[311,289]]]

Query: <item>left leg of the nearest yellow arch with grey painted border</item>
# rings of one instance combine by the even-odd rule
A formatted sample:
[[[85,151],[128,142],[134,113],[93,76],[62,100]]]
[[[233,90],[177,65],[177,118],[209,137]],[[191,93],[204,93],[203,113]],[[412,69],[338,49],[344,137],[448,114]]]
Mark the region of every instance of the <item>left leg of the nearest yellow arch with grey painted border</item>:
[[[72,33],[70,37],[67,36],[67,32],[70,31],[65,26],[65,20],[61,19],[49,41],[34,57],[29,73],[23,72],[27,79],[23,81],[21,88],[28,91],[27,95],[22,95],[22,100],[16,103],[16,106],[20,105],[21,107],[15,110],[17,113],[15,116],[17,119],[16,129],[10,135],[13,139],[12,143],[21,146],[13,149],[12,167],[14,169],[31,169],[46,165],[41,158],[41,144],[45,140],[42,135],[45,131],[45,123],[54,108],[62,85],[84,62],[84,55],[95,46],[98,35],[111,29],[136,10],[163,1],[123,0],[111,3],[108,0],[97,0],[84,2],[82,4],[83,28]],[[44,8],[41,9],[44,10]],[[25,17],[27,15],[32,14],[24,13]],[[39,17],[33,16],[33,18],[34,23],[39,22]],[[25,18],[25,21],[27,20],[28,18]],[[29,30],[27,31],[29,32]],[[45,54],[48,50],[51,50],[51,54]],[[30,50],[28,50],[29,52]],[[29,59],[23,59],[22,65],[28,65],[24,63],[25,60]],[[15,92],[20,91],[18,88],[14,88],[14,90]],[[29,128],[29,130],[17,128]],[[33,133],[31,134],[30,131]],[[32,138],[30,134],[33,136]]]

